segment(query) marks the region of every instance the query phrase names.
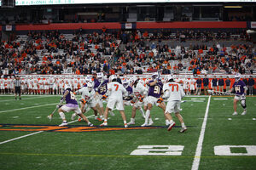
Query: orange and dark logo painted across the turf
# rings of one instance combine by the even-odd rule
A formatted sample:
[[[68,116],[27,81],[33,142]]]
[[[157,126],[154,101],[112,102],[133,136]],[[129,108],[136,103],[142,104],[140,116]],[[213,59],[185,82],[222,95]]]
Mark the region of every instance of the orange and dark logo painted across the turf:
[[[48,126],[48,125],[11,125],[11,124],[1,124],[0,131],[26,131],[26,132],[67,132],[67,133],[81,133],[81,132],[102,132],[102,131],[119,131],[119,130],[142,130],[142,129],[155,129],[163,127],[83,127],[83,126]]]

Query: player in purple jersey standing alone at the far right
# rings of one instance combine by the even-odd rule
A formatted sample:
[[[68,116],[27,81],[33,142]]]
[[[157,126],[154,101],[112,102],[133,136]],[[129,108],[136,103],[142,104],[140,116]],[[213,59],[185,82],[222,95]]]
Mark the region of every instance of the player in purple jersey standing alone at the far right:
[[[243,112],[241,115],[247,114],[247,105],[246,105],[246,94],[247,94],[247,86],[244,82],[240,80],[241,75],[236,74],[235,76],[236,82],[234,82],[232,88],[230,89],[230,93],[235,91],[235,98],[234,98],[234,113],[233,115],[237,115],[237,102],[241,100],[241,107],[243,108]]]

